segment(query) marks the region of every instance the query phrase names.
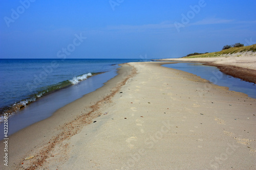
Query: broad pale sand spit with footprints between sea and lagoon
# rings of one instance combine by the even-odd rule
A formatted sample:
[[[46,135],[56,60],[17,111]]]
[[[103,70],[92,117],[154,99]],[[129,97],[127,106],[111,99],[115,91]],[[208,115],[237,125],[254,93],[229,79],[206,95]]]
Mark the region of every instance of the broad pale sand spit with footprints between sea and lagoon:
[[[0,169],[256,169],[256,99],[161,64],[123,64],[10,136]]]

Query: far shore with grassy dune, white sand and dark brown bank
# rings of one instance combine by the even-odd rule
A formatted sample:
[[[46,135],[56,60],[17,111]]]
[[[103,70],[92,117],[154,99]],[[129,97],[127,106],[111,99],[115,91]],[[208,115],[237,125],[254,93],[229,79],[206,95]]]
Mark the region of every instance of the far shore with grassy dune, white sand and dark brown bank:
[[[218,67],[227,75],[256,83],[256,44],[232,47],[227,50],[182,58],[168,58],[156,61],[200,62]]]

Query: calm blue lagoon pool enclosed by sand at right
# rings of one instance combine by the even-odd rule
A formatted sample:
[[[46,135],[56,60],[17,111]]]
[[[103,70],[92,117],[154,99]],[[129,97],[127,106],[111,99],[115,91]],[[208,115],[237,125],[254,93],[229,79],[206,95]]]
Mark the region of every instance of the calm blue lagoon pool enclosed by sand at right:
[[[222,73],[217,67],[203,65],[201,63],[176,63],[165,64],[163,66],[190,72],[213,84],[225,86],[228,87],[229,90],[242,92],[251,98],[256,98],[256,85],[254,83],[228,76]]]

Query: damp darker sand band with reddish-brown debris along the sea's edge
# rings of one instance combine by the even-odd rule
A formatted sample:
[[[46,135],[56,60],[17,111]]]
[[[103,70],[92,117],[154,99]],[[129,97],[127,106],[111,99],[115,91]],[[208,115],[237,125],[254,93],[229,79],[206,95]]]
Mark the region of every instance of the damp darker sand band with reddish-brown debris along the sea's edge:
[[[122,67],[125,68],[128,66],[125,65]],[[11,149],[8,151],[8,154],[12,155],[12,159],[14,159],[14,161],[9,163],[9,165],[11,165],[12,167],[7,167],[4,166],[3,164],[0,164],[0,167],[5,167],[7,169],[16,169],[18,167],[20,168],[20,165],[22,165],[20,161],[22,161],[26,157],[27,152],[32,151],[32,155],[37,155],[38,157],[40,157],[39,155],[44,155],[44,157],[41,157],[36,162],[32,163],[35,166],[31,165],[30,167],[26,167],[28,169],[35,169],[36,165],[40,166],[42,163],[44,163],[46,158],[50,157],[47,153],[53,149],[53,146],[60,142],[60,133],[58,132],[60,129],[61,134],[64,134],[64,136],[62,136],[61,139],[65,140],[70,138],[72,135],[75,135],[77,131],[79,131],[81,126],[84,126],[83,123],[79,123],[79,126],[77,126],[75,129],[75,127],[72,124],[75,122],[77,123],[77,119],[83,119],[86,125],[91,124],[92,119],[98,116],[95,114],[91,114],[98,109],[98,104],[101,103],[102,100],[109,100],[109,98],[111,98],[111,96],[117,92],[118,84],[123,83],[123,81],[129,79],[130,74],[135,74],[135,70],[132,70],[131,68],[126,68],[122,70],[120,68],[117,69],[118,75],[109,80],[108,82],[104,83],[103,87],[100,87],[99,89],[96,89],[95,91],[84,95],[82,98],[77,99],[76,101],[58,109],[49,118],[41,120],[40,122],[32,124],[10,135],[9,148]],[[123,78],[125,79],[122,80]],[[112,91],[112,89],[114,89],[114,91]],[[84,100],[86,100],[85,104]],[[73,115],[74,108],[76,108],[76,114]],[[77,112],[77,110],[81,110],[83,112],[88,113],[81,114],[80,111]],[[69,128],[68,130],[66,126],[68,126]],[[38,145],[40,146],[39,148]],[[0,148],[4,148],[3,142],[0,143]],[[33,152],[34,149],[36,151]],[[1,156],[4,157],[3,154],[4,152],[1,152]]]

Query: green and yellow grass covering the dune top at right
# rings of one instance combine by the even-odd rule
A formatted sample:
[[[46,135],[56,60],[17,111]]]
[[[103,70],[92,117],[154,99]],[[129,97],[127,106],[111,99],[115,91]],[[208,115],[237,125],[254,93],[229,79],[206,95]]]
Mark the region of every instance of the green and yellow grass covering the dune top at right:
[[[225,55],[225,54],[234,54],[234,53],[249,52],[249,51],[256,52],[256,44],[249,45],[249,46],[230,47],[226,50],[222,50],[220,52],[214,52],[214,53],[206,53],[206,54],[200,54],[200,55],[189,54],[189,56],[186,56],[183,58],[220,57],[221,55]]]

